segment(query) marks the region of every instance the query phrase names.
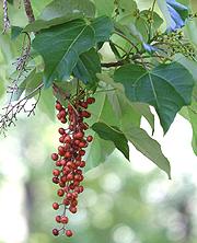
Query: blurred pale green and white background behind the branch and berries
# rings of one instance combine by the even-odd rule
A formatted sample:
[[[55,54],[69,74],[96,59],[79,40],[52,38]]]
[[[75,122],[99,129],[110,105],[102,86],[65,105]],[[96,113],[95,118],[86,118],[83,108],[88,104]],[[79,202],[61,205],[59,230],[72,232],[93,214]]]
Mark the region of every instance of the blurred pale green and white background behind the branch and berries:
[[[33,1],[36,14],[44,2]],[[150,2],[139,1],[140,8]],[[197,10],[196,1],[193,8]],[[10,15],[15,25],[25,25],[18,2]],[[194,42],[196,35],[190,33]],[[19,54],[20,39],[0,35],[0,94]],[[1,107],[4,103],[1,96]],[[30,118],[21,115],[8,137],[0,138],[0,243],[197,243],[197,158],[190,125],[179,115],[165,137],[158,118],[155,123],[154,138],[171,161],[172,181],[131,146],[130,163],[114,151],[85,174],[79,212],[70,220],[74,238],[55,239],[50,153],[58,144],[59,125],[47,115],[48,106],[42,108]],[[151,134],[146,120],[141,126]]]

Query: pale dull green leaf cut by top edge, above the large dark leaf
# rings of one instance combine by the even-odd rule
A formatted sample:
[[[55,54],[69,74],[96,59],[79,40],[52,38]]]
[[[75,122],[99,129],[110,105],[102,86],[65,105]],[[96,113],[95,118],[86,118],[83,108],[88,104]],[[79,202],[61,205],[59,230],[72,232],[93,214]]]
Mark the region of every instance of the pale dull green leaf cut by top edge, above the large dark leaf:
[[[94,18],[95,7],[89,0],[54,0],[42,12],[39,19],[53,20],[56,18],[68,16],[71,20],[81,16]]]

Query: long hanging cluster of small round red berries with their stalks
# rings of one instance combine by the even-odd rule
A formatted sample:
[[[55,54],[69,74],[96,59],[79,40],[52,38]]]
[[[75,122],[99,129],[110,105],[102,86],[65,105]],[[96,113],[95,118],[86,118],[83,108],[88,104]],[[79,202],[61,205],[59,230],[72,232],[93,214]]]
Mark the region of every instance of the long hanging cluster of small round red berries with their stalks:
[[[59,186],[57,195],[61,198],[60,202],[53,204],[53,208],[62,210],[61,215],[56,216],[56,222],[60,224],[58,229],[53,229],[53,234],[56,236],[61,232],[69,238],[73,235],[73,232],[67,228],[68,212],[77,212],[78,195],[83,192],[81,182],[85,161],[82,158],[89,142],[93,140],[92,136],[85,136],[89,125],[84,118],[91,117],[86,108],[94,102],[94,97],[83,97],[80,101],[68,103],[67,107],[63,107],[60,102],[56,102],[57,118],[62,124],[68,124],[67,128],[59,128],[61,144],[58,147],[57,153],[51,154],[56,164],[56,169],[53,171],[53,182]]]

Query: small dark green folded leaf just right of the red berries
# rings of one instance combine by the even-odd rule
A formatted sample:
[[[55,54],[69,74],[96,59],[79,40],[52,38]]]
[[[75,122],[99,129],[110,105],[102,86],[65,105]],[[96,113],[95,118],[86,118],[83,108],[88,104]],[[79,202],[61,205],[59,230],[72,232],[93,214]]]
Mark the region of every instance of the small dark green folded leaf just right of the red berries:
[[[113,141],[116,148],[123,152],[127,160],[129,160],[128,140],[117,127],[108,126],[104,123],[95,123],[92,129],[105,140]]]

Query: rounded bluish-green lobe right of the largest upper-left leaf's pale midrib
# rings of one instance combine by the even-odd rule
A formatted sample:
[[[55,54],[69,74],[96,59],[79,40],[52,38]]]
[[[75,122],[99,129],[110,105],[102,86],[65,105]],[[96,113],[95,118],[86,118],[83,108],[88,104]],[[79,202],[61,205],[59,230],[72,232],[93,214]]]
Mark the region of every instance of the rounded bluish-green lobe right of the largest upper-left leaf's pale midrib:
[[[92,26],[95,31],[96,43],[108,40],[114,30],[114,24],[107,16],[96,18],[93,20]]]

